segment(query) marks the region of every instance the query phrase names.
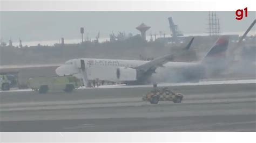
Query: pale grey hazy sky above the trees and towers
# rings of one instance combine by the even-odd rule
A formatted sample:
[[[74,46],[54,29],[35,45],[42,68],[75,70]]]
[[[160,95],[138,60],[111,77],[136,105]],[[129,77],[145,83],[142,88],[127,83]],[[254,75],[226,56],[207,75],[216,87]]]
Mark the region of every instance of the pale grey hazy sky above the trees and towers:
[[[255,19],[256,12],[249,12],[242,20],[235,19],[235,12],[217,12],[221,32],[241,32]],[[206,33],[208,12],[0,12],[1,38],[13,41],[79,39],[80,27],[90,38],[100,31],[101,38],[118,31],[139,34],[135,29],[144,22],[151,26],[147,35],[164,31],[170,33],[168,17],[172,17],[179,30],[186,33]],[[255,26],[254,26],[255,27]],[[253,29],[255,33],[255,28]]]

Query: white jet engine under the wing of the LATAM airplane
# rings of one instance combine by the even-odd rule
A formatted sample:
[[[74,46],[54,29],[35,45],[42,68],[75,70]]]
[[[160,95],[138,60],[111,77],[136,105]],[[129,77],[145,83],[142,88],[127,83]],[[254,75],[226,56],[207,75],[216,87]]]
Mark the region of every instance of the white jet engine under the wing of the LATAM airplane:
[[[120,67],[116,71],[116,76],[119,81],[136,81],[137,70],[133,68]]]

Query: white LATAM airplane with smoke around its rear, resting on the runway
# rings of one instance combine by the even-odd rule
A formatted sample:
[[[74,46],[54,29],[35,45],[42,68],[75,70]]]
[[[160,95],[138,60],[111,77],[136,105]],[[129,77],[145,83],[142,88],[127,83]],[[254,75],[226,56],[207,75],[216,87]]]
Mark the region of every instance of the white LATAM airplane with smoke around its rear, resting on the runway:
[[[205,58],[199,62],[170,62],[170,54],[152,61],[82,58],[66,61],[56,69],[56,74],[76,76],[83,80],[84,85],[89,85],[89,81],[96,79],[125,84],[145,84],[151,82],[153,74],[155,77],[174,79],[174,82],[194,82],[204,78],[206,72],[219,73],[225,69],[228,40],[228,36],[220,37]]]

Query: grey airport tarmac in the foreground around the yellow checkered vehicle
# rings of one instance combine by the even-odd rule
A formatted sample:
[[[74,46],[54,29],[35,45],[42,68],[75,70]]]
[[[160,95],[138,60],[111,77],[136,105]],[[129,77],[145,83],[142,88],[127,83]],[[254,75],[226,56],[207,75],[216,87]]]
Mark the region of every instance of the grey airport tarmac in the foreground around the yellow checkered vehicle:
[[[71,94],[1,92],[1,131],[256,131],[256,83],[175,85],[183,103],[142,102],[150,87]]]

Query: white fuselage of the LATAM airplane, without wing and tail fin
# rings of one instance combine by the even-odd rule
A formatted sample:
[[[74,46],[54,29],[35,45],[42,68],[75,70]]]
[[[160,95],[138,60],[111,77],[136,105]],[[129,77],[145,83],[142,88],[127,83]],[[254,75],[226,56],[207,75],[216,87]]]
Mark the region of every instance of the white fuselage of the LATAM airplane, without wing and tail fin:
[[[112,59],[72,59],[63,66],[56,69],[56,73],[60,76],[63,75],[75,75],[81,78],[79,64],[80,60],[84,60],[85,71],[87,80],[104,80],[104,81],[136,81],[136,70],[134,68],[144,65],[149,61],[141,60],[112,60]],[[200,62],[167,62],[163,66],[156,69],[156,74],[153,74],[151,80],[154,82],[160,81],[189,81],[191,78],[196,78],[201,74]],[[117,69],[122,68],[125,71],[126,68],[130,70],[126,72],[123,79],[120,80],[117,77]],[[133,71],[134,70],[134,71]],[[135,73],[134,73],[135,72]],[[122,74],[122,73],[121,73]]]

